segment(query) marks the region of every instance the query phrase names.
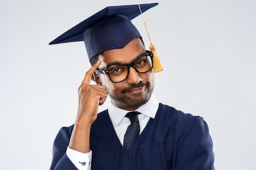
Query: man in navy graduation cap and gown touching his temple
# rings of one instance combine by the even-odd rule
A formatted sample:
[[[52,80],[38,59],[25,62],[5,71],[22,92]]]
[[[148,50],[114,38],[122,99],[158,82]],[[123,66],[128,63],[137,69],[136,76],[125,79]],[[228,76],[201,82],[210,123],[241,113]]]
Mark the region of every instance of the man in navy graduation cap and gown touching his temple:
[[[142,12],[156,5],[143,4]],[[155,58],[130,21],[138,15],[137,5],[107,7],[50,42],[83,40],[92,64],[75,124],[55,138],[50,169],[214,169],[203,118],[152,94]],[[97,114],[107,95],[112,106]]]

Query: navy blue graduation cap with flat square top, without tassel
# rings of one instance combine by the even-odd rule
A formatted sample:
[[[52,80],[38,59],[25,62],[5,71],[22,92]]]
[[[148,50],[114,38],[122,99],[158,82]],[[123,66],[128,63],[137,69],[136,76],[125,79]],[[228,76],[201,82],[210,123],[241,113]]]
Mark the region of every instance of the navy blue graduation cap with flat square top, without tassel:
[[[100,52],[122,48],[134,38],[142,38],[131,20],[156,5],[158,3],[107,6],[60,35],[49,45],[84,41],[91,60]]]

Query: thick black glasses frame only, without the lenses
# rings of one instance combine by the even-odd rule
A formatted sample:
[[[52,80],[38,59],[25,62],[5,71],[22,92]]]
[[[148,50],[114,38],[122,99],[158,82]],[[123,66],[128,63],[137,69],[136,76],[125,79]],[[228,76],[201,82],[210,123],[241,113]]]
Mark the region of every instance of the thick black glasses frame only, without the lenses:
[[[154,55],[153,55],[153,53],[152,53],[151,51],[146,50],[146,54],[145,54],[145,55],[142,55],[142,57],[146,57],[146,56],[149,56],[149,57],[151,58],[151,68],[150,68],[148,71],[146,71],[146,72],[149,72],[149,71],[153,68],[153,57],[154,57]],[[128,63],[128,64],[120,64],[120,65],[117,65],[117,66],[114,66],[114,67],[127,66],[127,68],[128,68],[128,69],[127,69],[127,70],[128,70],[128,71],[127,71],[127,77],[129,77],[129,68],[130,68],[130,67],[133,67],[133,68],[136,70],[136,72],[138,72],[138,73],[141,73],[141,74],[146,73],[146,72],[139,72],[139,71],[134,67],[134,62],[137,62],[137,60],[141,59],[142,57],[139,57],[139,58],[137,58],[136,60],[133,60],[132,62],[130,62],[130,63]],[[96,72],[96,74],[107,74],[107,76],[110,78],[110,81],[112,81],[112,79],[111,79],[111,77],[110,77],[110,69],[113,69],[114,67],[111,67],[111,68],[106,69],[106,70],[96,69],[95,72]],[[123,79],[122,81],[126,80],[127,77],[125,77],[125,79]],[[112,83],[120,83],[120,82],[122,82],[122,81],[117,81],[117,82],[112,81]]]

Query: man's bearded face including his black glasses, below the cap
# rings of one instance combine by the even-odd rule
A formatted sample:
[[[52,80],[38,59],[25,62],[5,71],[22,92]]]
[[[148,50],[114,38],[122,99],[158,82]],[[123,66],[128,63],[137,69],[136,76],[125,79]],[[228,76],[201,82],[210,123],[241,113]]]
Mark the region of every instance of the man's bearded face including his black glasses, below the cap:
[[[149,101],[154,88],[151,55],[139,38],[134,38],[121,49],[107,50],[100,55],[102,64],[99,68],[107,70],[108,77],[102,76],[96,82],[107,87],[114,106],[134,111]]]

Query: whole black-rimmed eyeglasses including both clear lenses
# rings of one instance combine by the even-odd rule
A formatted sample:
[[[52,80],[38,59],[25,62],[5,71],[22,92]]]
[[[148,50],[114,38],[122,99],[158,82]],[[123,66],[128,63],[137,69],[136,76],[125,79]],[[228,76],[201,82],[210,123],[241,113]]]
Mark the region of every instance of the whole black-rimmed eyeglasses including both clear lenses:
[[[120,64],[106,70],[96,69],[95,72],[96,74],[107,74],[113,83],[119,83],[127,79],[130,67],[133,67],[138,73],[149,72],[153,68],[153,57],[152,52],[146,51],[145,55],[142,55],[142,57],[137,58],[129,64]]]

